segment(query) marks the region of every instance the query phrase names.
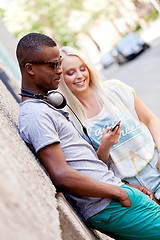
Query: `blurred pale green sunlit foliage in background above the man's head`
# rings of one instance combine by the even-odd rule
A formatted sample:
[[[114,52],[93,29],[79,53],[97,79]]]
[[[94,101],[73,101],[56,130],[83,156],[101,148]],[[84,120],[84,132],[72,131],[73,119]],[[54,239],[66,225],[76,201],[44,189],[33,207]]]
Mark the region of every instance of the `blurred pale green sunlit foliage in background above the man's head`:
[[[123,17],[119,9],[124,5],[124,0],[8,1],[10,4],[6,10],[0,8],[0,16],[18,39],[29,32],[40,32],[53,37],[59,46],[76,46],[78,34],[83,33],[99,48],[90,34],[90,29],[99,19],[110,19],[121,35],[115,19]]]

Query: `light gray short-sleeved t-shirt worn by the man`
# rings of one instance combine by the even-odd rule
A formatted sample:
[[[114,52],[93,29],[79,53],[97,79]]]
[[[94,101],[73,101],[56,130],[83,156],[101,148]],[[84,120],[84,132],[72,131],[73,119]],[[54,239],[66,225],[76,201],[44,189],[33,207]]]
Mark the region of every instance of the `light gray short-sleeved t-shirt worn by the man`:
[[[43,100],[29,99],[20,104],[19,130],[23,140],[37,153],[41,148],[59,142],[67,164],[82,174],[103,183],[120,186],[107,165],[98,159],[92,146],[85,141],[68,118],[68,113],[57,110]],[[80,197],[65,193],[69,201],[85,218],[102,211],[109,198]]]

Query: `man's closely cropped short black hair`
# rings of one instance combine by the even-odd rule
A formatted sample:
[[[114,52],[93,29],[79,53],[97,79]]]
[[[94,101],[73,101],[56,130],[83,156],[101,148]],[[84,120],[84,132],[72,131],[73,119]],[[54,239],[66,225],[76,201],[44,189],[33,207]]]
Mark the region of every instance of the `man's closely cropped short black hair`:
[[[29,33],[20,39],[17,45],[16,55],[19,65],[22,67],[24,62],[30,59],[32,56],[39,53],[43,47],[55,47],[56,42],[41,33]]]

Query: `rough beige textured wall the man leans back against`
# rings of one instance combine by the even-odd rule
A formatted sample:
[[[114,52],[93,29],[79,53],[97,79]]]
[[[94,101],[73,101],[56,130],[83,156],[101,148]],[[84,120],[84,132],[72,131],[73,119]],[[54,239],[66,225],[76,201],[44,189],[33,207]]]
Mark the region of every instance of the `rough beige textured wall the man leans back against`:
[[[19,137],[18,109],[0,82],[0,239],[59,240],[56,190]]]

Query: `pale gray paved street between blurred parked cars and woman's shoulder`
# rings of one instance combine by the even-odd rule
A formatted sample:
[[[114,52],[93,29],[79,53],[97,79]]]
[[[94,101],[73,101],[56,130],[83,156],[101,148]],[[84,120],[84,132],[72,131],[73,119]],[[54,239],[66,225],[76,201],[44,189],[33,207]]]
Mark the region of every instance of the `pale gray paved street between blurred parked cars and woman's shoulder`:
[[[114,64],[100,72],[103,80],[116,78],[134,87],[136,95],[160,119],[160,32],[150,45],[133,61],[123,66]]]

